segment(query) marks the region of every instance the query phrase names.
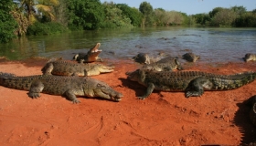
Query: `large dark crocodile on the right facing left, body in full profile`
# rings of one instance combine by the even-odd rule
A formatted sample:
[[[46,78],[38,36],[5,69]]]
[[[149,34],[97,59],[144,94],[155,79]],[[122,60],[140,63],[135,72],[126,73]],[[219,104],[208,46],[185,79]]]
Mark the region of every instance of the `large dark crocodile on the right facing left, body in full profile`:
[[[145,94],[138,99],[147,98],[153,90],[185,91],[185,96],[198,97],[205,90],[238,89],[252,82],[256,72],[243,72],[234,75],[217,75],[200,71],[148,71],[137,69],[126,72],[127,78],[147,87]]]

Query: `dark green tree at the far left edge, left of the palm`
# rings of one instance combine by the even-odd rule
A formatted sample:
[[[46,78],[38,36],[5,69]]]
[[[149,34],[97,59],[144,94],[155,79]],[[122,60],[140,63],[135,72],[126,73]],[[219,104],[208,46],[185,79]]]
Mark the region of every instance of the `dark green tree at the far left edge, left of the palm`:
[[[14,38],[17,28],[16,20],[10,14],[14,8],[12,0],[0,1],[0,42],[5,43]]]

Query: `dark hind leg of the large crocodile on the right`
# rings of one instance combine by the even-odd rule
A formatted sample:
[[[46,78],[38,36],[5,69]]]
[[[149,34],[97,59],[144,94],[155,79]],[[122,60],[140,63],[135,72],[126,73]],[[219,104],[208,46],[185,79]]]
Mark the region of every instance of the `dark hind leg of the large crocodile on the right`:
[[[212,83],[203,77],[193,79],[189,84],[186,91],[186,98],[199,97],[203,95],[204,89],[211,89]]]

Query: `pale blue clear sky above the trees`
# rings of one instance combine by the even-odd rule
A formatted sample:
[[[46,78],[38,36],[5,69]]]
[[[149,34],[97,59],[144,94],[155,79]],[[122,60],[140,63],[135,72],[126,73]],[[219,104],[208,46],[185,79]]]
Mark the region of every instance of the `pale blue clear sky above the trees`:
[[[187,15],[208,13],[215,7],[244,6],[247,11],[256,9],[256,0],[101,0],[101,3],[105,1],[136,8],[139,8],[141,3],[147,2],[154,9],[163,8],[166,11],[174,10]]]

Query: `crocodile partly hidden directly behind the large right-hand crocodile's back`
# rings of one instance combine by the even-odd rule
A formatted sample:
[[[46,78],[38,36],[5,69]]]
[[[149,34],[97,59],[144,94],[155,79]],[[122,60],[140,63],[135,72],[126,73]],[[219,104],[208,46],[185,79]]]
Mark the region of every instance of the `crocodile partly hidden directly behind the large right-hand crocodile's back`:
[[[173,69],[182,70],[183,68],[178,61],[178,57],[165,57],[155,63],[144,65],[141,69],[172,71]]]

